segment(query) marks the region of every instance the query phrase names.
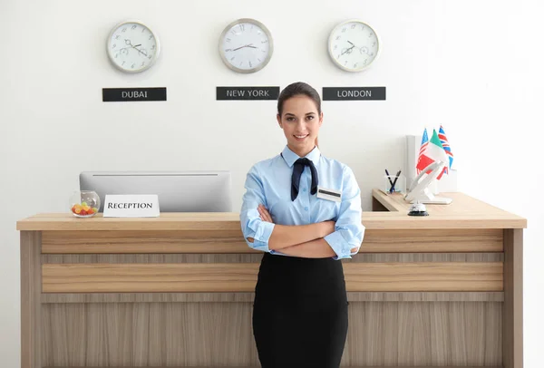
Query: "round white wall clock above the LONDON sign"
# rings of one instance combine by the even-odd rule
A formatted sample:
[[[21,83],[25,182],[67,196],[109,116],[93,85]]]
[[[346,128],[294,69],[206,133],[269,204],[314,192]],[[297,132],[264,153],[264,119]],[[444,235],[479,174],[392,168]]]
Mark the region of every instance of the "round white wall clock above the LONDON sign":
[[[368,24],[351,20],[338,24],[331,32],[328,49],[338,67],[348,72],[360,72],[374,62],[380,42]]]

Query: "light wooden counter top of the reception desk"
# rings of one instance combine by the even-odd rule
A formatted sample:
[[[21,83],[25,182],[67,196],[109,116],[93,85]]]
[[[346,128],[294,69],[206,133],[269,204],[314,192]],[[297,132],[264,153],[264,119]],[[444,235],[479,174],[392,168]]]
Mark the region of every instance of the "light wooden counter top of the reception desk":
[[[407,216],[409,203],[400,195],[373,189],[373,198],[388,211],[363,212],[367,229],[527,228],[527,219],[465,194],[442,193],[450,205],[427,205],[430,216]],[[159,218],[75,218],[71,213],[44,213],[17,221],[17,230],[240,230],[239,215],[228,213],[161,213]],[[241,231],[241,230],[240,230]]]

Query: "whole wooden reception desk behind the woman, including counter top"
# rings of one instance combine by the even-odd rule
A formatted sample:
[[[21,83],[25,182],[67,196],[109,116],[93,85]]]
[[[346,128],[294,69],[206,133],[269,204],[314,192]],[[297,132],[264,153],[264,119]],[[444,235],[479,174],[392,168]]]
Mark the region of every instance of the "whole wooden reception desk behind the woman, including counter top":
[[[360,252],[342,260],[342,366],[521,368],[526,219],[461,193],[414,218],[373,194]],[[262,253],[237,213],[40,214],[17,229],[22,367],[259,366]]]

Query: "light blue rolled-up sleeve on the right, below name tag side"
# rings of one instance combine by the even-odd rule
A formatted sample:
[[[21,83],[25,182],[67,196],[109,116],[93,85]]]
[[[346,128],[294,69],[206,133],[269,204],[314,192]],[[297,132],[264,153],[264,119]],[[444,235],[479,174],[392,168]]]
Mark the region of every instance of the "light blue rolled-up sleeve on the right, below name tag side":
[[[364,237],[362,214],[361,190],[352,169],[345,166],[342,202],[336,218],[335,232],[324,237],[336,253],[333,259],[351,258],[359,251]],[[357,252],[352,252],[351,249],[355,247]]]

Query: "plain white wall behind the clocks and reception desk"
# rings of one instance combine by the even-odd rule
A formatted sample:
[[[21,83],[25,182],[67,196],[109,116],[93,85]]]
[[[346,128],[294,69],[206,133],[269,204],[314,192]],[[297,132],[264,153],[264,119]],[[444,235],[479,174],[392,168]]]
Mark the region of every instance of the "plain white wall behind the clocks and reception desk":
[[[404,136],[444,125],[461,191],[529,219],[525,231],[525,367],[539,367],[544,286],[539,137],[544,92],[539,16],[529,1],[0,2],[0,361],[20,362],[15,221],[66,210],[91,169],[229,169],[238,211],[246,172],[285,144],[275,102],[216,102],[218,85],[386,86],[387,101],[324,102],[320,146],[355,171],[364,210],[384,168],[403,167]],[[275,53],[255,74],[218,53],[231,21],[270,29]],[[329,61],[333,26],[361,18],[383,50],[365,73]],[[126,75],[108,63],[112,26],[139,18],[160,37],[160,60]],[[102,102],[103,87],[165,86],[168,102]]]

